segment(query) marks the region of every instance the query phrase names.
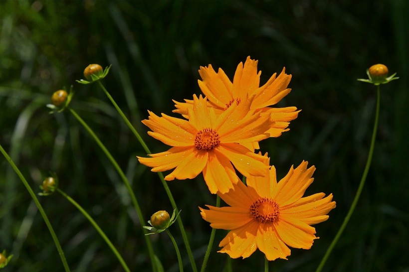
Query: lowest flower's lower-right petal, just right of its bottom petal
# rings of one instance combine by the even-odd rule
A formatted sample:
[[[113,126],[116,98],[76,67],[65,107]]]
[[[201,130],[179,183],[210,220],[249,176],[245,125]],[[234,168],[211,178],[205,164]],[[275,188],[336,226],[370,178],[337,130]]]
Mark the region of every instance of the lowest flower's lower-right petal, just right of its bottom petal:
[[[279,220],[274,222],[274,228],[281,240],[292,248],[310,249],[315,237],[315,228],[304,222],[279,215]]]

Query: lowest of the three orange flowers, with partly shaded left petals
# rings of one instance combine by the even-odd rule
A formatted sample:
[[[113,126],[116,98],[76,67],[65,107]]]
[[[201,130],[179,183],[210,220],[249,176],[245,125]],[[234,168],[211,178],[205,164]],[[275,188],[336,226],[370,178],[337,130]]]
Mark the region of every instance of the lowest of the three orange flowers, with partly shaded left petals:
[[[315,228],[310,225],[328,219],[328,212],[335,208],[332,194],[325,197],[318,193],[307,197],[307,187],[315,167],[307,169],[302,162],[296,169],[277,183],[274,166],[266,177],[248,177],[247,186],[242,182],[225,194],[218,194],[230,207],[200,208],[203,219],[215,229],[230,230],[220,242],[219,252],[231,258],[249,257],[257,248],[269,261],[287,259],[287,247],[310,249]]]

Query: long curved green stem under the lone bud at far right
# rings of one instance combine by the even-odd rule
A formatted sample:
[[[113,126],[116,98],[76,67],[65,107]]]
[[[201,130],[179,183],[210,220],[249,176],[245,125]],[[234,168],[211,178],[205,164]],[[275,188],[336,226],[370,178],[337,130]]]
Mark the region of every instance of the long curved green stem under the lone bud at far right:
[[[335,245],[337,244],[339,238],[341,237],[342,233],[344,232],[345,227],[348,225],[348,222],[354,213],[355,207],[357,206],[359,197],[361,196],[362,189],[364,188],[365,185],[365,180],[368,175],[369,168],[371,166],[372,162],[372,155],[374,153],[374,146],[375,146],[375,139],[377,135],[377,130],[378,130],[378,123],[379,123],[379,112],[380,112],[380,104],[381,104],[381,90],[380,86],[377,86],[377,105],[376,105],[376,112],[375,112],[375,124],[374,124],[374,130],[372,132],[372,140],[371,140],[371,146],[369,148],[369,154],[368,154],[368,159],[367,159],[367,164],[365,165],[365,170],[364,173],[362,174],[361,182],[359,183],[358,191],[355,195],[354,201],[352,202],[351,208],[348,211],[347,216],[344,219],[344,222],[342,223],[340,229],[338,230],[337,235],[335,236],[334,240],[332,241],[331,245],[327,249],[327,252],[325,253],[324,257],[321,260],[321,263],[319,264],[316,272],[320,272],[325,265],[325,262],[327,261],[328,257],[330,256],[332,250],[334,249]]]

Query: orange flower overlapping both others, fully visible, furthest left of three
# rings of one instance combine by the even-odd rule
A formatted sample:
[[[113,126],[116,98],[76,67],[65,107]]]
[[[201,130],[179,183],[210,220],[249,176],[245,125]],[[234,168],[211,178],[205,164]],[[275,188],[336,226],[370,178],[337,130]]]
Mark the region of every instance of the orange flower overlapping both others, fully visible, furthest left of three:
[[[239,105],[232,105],[221,115],[206,105],[206,98],[194,96],[193,107],[188,109],[189,121],[149,112],[144,120],[152,132],[150,136],[173,146],[166,152],[151,154],[139,161],[160,172],[175,168],[166,180],[194,178],[203,171],[211,193],[225,193],[233,188],[238,177],[234,167],[245,176],[265,176],[266,157],[254,154],[243,143],[269,137],[271,126],[268,114],[254,113],[250,104],[254,97]]]

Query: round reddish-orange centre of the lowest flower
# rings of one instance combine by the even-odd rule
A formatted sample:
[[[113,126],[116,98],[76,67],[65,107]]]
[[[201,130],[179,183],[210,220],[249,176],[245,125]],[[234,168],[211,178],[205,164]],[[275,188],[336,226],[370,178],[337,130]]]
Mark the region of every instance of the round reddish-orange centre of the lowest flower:
[[[250,206],[250,213],[261,223],[274,222],[280,214],[280,206],[274,200],[263,197]]]

